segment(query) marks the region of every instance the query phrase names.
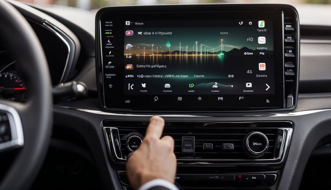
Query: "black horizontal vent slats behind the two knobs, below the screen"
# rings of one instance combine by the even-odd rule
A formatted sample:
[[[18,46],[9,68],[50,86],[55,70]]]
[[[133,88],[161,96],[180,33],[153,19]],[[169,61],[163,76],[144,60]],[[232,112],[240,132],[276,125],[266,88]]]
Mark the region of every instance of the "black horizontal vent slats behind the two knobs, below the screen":
[[[108,123],[109,122],[109,123]],[[104,127],[118,128],[122,158],[130,152],[126,147],[128,134],[132,132],[145,136],[148,122],[108,121]],[[177,159],[255,159],[248,156],[243,148],[245,136],[253,131],[263,133],[269,141],[266,153],[259,159],[273,159],[279,128],[292,127],[290,122],[166,122],[164,135],[175,140],[174,152]],[[194,155],[182,154],[182,137],[195,137]],[[204,150],[204,143],[212,143],[213,150]],[[223,143],[233,144],[233,150],[223,150]],[[277,152],[277,151],[276,151]],[[276,153],[277,154],[277,153]]]

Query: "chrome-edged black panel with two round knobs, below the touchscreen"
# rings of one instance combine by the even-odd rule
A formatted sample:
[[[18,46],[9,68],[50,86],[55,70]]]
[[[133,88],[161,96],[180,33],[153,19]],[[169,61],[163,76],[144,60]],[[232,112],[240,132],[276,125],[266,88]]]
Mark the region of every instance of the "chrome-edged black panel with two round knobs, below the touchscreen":
[[[113,161],[125,163],[142,142],[147,126],[148,121],[103,122]],[[174,139],[178,165],[266,165],[285,160],[292,130],[290,121],[166,121],[163,135]]]

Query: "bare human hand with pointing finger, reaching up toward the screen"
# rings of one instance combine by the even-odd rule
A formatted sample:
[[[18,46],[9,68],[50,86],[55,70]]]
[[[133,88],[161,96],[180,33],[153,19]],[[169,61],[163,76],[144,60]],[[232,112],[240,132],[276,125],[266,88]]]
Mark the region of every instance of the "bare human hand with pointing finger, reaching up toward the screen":
[[[128,178],[134,189],[153,179],[175,181],[177,160],[173,152],[174,140],[170,136],[161,138],[164,125],[162,117],[151,117],[144,140],[126,162]]]

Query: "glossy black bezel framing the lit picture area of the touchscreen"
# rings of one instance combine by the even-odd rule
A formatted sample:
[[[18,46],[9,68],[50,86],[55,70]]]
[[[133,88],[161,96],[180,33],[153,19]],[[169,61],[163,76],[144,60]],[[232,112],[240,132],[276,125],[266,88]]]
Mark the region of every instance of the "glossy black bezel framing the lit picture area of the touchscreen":
[[[98,60],[98,81],[100,83],[99,92],[100,98],[102,100],[102,106],[106,110],[118,110],[118,111],[163,111],[163,112],[202,112],[202,111],[253,111],[253,110],[274,110],[274,109],[284,109],[284,21],[283,13],[279,10],[244,10],[241,6],[234,6],[232,8],[226,6],[220,6],[219,9],[215,10],[215,7],[208,6],[208,9],[201,10],[197,9],[197,6],[186,7],[183,11],[180,7],[183,6],[143,6],[143,7],[113,7],[106,8],[98,12],[96,21],[96,31],[97,31],[97,60]],[[167,8],[172,8],[171,12],[166,12]],[[223,10],[222,10],[223,9]],[[242,9],[242,10],[240,10]],[[180,10],[180,11],[179,11]],[[275,94],[267,95],[249,95],[245,94],[245,101],[241,99],[241,102],[234,99],[234,95],[224,95],[227,97],[227,103],[215,104],[209,99],[215,99],[217,95],[204,95],[204,101],[198,101],[196,95],[183,95],[186,102],[175,101],[177,96],[181,95],[157,95],[158,102],[155,101],[155,95],[124,95],[124,60],[123,56],[118,56],[115,62],[120,68],[118,68],[116,73],[116,81],[112,81],[112,84],[118,86],[109,91],[108,83],[105,83],[105,73],[103,64],[102,48],[104,46],[102,40],[104,40],[101,31],[104,30],[102,22],[105,20],[112,20],[113,22],[113,32],[114,36],[116,33],[115,44],[118,44],[118,48],[114,48],[114,53],[118,55],[123,55],[123,43],[124,43],[124,23],[126,20],[132,20],[134,15],[134,20],[162,20],[162,16],[166,15],[166,19],[171,20],[176,19],[176,17],[188,17],[190,14],[197,15],[214,15],[216,17],[225,17],[229,20],[238,19],[272,19],[273,20],[273,34],[274,34],[274,74],[275,83],[274,89]],[[151,17],[153,14],[158,14],[158,17]],[[148,19],[147,19],[148,18]],[[196,18],[192,18],[196,19]],[[203,19],[201,19],[203,20]],[[215,26],[216,27],[216,26]],[[215,96],[215,97],[214,97]],[[235,95],[238,96],[239,95]],[[232,99],[231,99],[232,98]],[[263,101],[262,101],[262,100]],[[128,104],[126,100],[130,100]],[[268,102],[269,100],[269,102]],[[270,102],[270,100],[272,100]]]

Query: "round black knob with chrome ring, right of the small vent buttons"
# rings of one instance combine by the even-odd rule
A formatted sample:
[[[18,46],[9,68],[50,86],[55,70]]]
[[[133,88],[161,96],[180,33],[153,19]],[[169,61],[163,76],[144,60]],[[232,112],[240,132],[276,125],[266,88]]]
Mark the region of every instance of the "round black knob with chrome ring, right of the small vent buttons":
[[[268,150],[268,138],[259,131],[248,133],[243,141],[243,148],[247,155],[258,158]]]

